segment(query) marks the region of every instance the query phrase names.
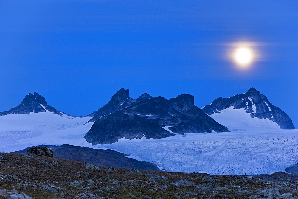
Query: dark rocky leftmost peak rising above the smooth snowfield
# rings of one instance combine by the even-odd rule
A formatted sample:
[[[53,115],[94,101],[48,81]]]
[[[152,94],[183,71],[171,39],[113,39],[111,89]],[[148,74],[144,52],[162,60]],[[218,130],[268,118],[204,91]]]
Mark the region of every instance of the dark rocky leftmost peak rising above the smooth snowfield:
[[[58,111],[56,108],[52,106],[49,106],[43,96],[34,92],[33,94],[29,93],[28,95],[26,95],[21,104],[19,104],[18,106],[11,108],[8,111],[0,112],[0,116],[4,116],[7,114],[30,114],[32,112],[41,113],[46,111],[52,112],[53,114],[57,114],[60,116],[66,114],[61,111]],[[75,117],[69,114],[66,115]]]

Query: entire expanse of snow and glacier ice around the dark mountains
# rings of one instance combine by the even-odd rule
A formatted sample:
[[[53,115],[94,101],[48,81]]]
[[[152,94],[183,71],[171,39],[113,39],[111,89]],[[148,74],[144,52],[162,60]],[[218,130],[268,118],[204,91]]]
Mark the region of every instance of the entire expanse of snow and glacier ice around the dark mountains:
[[[228,133],[176,134],[162,139],[144,136],[131,141],[122,138],[117,143],[94,146],[83,138],[93,124],[83,125],[90,117],[60,117],[48,111],[7,114],[0,116],[0,151],[13,152],[40,144],[71,144],[113,149],[167,171],[215,175],[270,174],[298,162],[298,130],[281,130],[268,119],[258,121],[248,118],[244,110],[236,111],[239,113],[223,110],[211,115],[232,130]]]

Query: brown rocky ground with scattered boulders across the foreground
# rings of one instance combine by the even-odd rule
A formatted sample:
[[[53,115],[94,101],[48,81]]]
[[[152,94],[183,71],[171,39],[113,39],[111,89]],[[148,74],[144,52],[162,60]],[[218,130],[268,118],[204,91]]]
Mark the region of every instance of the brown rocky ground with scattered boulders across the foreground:
[[[146,171],[1,153],[0,198],[296,198],[298,177]],[[263,179],[261,179],[263,178]]]

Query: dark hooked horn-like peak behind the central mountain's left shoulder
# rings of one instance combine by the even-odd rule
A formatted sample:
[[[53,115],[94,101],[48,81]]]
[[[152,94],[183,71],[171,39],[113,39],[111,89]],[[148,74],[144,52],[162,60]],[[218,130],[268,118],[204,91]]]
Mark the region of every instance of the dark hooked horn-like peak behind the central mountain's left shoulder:
[[[132,99],[129,97],[128,89],[125,90],[124,88],[121,88],[112,96],[111,100],[108,103],[103,105],[103,107],[101,107],[97,111],[94,111],[90,115],[87,115],[89,117],[92,117],[88,122],[94,122],[101,116],[109,113],[113,113],[121,108],[127,107],[128,105],[130,105],[135,101],[136,101],[135,99]]]

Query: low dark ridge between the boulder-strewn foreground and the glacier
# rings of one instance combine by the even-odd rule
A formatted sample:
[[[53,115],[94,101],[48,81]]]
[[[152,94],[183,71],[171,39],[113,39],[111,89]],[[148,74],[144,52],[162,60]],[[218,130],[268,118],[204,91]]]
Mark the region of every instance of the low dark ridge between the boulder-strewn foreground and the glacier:
[[[109,149],[91,149],[87,147],[78,147],[68,144],[63,144],[61,146],[39,145],[38,147],[50,148],[54,151],[54,157],[60,159],[80,162],[86,161],[89,164],[105,167],[134,168],[160,171],[155,164],[128,158],[128,155],[124,153],[119,153],[117,151]],[[28,149],[29,148],[26,148],[12,153],[26,154]]]

